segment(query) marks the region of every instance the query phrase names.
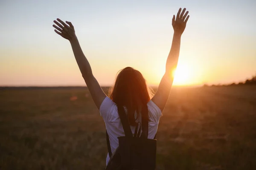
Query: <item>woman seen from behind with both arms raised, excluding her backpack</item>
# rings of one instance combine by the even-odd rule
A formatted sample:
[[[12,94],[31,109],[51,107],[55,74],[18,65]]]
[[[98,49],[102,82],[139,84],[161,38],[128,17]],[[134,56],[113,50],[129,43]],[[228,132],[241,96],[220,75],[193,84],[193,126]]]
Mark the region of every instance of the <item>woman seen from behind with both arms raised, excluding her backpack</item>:
[[[143,75],[131,68],[122,69],[116,77],[115,85],[110,91],[110,96],[102,91],[96,78],[93,76],[92,69],[87,58],[79,45],[76,37],[74,26],[71,22],[62,20],[54,20],[56,25],[53,25],[55,32],[61,37],[70,41],[73,49],[76,62],[79,66],[81,74],[90,91],[90,94],[99,109],[100,115],[103,117],[108,131],[109,140],[111,144],[111,151],[113,152],[118,147],[118,136],[124,136],[122,124],[119,119],[117,106],[122,105],[128,116],[129,124],[131,125],[132,133],[134,133],[135,125],[141,119],[148,119],[148,139],[153,139],[157,133],[157,127],[162,111],[169,98],[169,93],[172,87],[174,77],[172,71],[176,68],[179,52],[180,39],[189,19],[189,11],[181,8],[177,12],[177,16],[173,15],[172,26],[174,29],[172,47],[166,62],[166,72],[161,79],[156,94],[151,99],[151,91],[146,85]],[[148,113],[143,113],[142,106],[148,107]],[[109,156],[107,156],[108,164]]]

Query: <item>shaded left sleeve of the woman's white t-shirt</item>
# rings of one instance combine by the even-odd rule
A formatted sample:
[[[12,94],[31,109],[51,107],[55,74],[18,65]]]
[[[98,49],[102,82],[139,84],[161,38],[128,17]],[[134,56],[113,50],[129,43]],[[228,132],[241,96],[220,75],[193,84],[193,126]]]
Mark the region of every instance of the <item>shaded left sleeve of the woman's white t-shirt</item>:
[[[102,116],[104,121],[109,121],[111,119],[111,112],[115,105],[116,104],[109,97],[105,97],[99,107],[99,114]]]

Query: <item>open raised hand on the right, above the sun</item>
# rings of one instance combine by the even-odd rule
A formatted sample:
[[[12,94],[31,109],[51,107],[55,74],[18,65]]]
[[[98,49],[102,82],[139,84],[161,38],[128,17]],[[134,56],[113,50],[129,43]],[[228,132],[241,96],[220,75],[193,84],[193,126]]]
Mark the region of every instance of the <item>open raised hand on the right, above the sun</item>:
[[[172,17],[172,27],[176,33],[182,34],[186,28],[186,23],[189,20],[189,15],[188,15],[189,11],[186,11],[186,13],[185,11],[186,11],[186,8],[183,8],[182,12],[180,8],[177,13],[176,19],[175,19],[175,15],[173,15]]]

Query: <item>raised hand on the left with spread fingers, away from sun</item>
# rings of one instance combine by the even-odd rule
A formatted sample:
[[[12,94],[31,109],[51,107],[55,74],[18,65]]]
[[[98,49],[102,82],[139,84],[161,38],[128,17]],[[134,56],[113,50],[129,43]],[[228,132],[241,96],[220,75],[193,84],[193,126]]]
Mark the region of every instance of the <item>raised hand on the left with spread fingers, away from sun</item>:
[[[75,29],[74,26],[72,25],[71,22],[66,21],[66,23],[64,23],[62,20],[57,18],[57,21],[54,20],[53,21],[57,26],[55,26],[54,24],[52,25],[55,28],[55,32],[57,34],[59,34],[61,37],[71,41],[73,39],[76,38],[76,34],[75,34]],[[58,30],[58,31],[57,31]]]

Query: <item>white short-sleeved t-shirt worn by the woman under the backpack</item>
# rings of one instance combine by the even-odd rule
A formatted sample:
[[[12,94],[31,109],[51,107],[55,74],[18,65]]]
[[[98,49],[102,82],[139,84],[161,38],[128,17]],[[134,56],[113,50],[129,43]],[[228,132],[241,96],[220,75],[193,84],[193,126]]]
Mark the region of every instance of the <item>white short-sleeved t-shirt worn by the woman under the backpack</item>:
[[[157,133],[157,127],[159,123],[160,116],[162,116],[162,112],[157,105],[150,100],[148,103],[148,139],[154,139],[154,136]],[[125,109],[126,110],[126,109]],[[118,139],[119,136],[125,136],[125,132],[122,127],[121,120],[118,115],[116,104],[108,97],[106,97],[99,108],[99,113],[103,117],[106,130],[108,132],[109,141],[111,145],[111,151],[113,153],[114,150],[118,147]],[[135,112],[135,117],[137,117],[137,113]],[[141,116],[138,116],[136,122],[141,122]],[[134,134],[135,126],[131,126],[131,131]],[[109,161],[109,155],[107,155],[107,164]]]

